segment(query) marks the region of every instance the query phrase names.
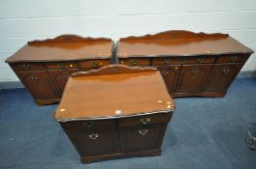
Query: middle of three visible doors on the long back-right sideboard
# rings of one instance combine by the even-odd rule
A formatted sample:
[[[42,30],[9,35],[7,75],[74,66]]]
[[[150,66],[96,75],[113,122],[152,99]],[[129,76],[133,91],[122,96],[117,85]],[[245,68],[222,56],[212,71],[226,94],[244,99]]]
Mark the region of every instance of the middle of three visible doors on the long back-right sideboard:
[[[177,82],[176,92],[197,93],[211,69],[211,64],[183,65]]]

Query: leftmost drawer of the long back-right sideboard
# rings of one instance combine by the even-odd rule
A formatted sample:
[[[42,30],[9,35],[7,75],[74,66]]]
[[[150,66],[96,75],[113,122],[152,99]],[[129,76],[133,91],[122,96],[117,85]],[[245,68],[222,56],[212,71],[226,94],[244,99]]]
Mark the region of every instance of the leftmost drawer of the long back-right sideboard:
[[[119,64],[128,66],[149,66],[149,58],[129,58],[129,59],[119,59]]]

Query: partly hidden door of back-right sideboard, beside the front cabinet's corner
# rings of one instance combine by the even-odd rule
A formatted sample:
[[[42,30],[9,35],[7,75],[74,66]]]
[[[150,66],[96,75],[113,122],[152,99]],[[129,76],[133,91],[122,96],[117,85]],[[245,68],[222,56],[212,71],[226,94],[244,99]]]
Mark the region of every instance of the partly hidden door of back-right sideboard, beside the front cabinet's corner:
[[[169,93],[174,93],[180,66],[156,67],[162,73]]]

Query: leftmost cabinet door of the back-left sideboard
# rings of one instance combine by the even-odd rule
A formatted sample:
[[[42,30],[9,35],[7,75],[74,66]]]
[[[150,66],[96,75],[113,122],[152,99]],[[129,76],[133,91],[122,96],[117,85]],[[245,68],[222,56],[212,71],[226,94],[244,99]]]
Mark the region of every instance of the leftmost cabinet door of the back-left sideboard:
[[[16,72],[16,75],[34,99],[59,98],[46,70],[19,71]]]

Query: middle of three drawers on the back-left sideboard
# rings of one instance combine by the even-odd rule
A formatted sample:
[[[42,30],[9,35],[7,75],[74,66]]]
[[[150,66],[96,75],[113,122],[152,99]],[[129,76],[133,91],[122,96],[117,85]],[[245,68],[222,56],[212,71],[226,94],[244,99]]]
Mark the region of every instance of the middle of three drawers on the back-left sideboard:
[[[48,70],[66,70],[78,68],[77,62],[52,62],[46,64]]]

